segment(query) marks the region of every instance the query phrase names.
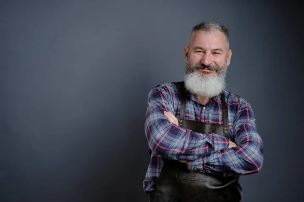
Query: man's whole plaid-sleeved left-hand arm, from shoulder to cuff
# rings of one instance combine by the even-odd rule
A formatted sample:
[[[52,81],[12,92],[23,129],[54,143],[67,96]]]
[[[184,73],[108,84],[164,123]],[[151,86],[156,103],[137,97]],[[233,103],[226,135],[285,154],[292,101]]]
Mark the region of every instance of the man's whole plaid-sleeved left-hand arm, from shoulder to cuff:
[[[151,90],[147,99],[145,134],[154,154],[173,160],[193,160],[229,146],[226,137],[196,133],[172,124],[164,115],[171,112],[175,118],[172,99],[169,90],[161,87]]]

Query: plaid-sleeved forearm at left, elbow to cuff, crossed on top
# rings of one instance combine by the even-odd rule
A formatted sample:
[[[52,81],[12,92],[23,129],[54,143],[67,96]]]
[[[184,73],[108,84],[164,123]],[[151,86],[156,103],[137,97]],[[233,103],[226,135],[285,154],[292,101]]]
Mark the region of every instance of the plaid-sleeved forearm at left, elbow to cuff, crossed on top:
[[[165,117],[153,123],[147,121],[145,131],[153,153],[173,160],[193,160],[229,146],[226,137],[185,130]]]

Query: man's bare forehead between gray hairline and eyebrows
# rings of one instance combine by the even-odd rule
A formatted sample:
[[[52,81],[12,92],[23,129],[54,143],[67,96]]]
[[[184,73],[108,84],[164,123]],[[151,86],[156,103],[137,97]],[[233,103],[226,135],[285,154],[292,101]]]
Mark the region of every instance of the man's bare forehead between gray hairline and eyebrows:
[[[220,31],[197,31],[191,38],[189,45],[191,47],[200,46],[204,49],[222,48],[227,49],[227,40]]]

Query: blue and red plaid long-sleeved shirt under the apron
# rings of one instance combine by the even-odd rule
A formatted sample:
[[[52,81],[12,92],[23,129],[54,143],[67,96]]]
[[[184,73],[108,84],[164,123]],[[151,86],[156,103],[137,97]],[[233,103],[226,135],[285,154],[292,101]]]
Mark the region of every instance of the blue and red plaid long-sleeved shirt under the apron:
[[[228,110],[230,138],[214,133],[201,134],[172,124],[163,115],[172,112],[179,118],[180,82],[159,84],[148,94],[145,134],[151,159],[144,191],[153,190],[161,173],[164,158],[187,160],[188,170],[219,176],[242,176],[257,173],[263,163],[263,143],[259,136],[250,104],[242,97],[224,91]],[[185,119],[222,125],[220,95],[205,106],[187,92]],[[238,146],[228,148],[229,140]],[[240,193],[242,189],[239,184]]]

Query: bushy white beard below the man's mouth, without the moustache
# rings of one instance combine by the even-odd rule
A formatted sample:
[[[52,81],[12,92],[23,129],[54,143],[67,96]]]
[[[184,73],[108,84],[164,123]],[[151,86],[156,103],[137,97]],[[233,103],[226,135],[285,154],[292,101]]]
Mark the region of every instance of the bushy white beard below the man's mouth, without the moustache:
[[[197,71],[185,73],[185,88],[193,94],[215,97],[225,89],[226,70],[227,68],[218,75],[202,74]]]

